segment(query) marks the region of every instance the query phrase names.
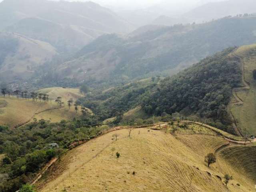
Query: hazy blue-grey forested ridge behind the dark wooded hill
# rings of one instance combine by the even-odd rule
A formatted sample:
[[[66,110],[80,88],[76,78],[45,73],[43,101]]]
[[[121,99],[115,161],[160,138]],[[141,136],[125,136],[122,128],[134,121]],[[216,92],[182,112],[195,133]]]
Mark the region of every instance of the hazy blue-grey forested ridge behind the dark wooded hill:
[[[256,42],[256,17],[223,18],[205,24],[144,27],[128,36],[106,35],[60,65],[60,73],[88,84],[127,82],[172,75],[230,46]]]

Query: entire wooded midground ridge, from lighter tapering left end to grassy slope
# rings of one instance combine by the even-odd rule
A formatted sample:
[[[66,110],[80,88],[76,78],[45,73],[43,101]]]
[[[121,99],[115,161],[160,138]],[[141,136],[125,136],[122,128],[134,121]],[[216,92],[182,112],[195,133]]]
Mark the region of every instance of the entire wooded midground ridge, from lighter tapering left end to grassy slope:
[[[179,112],[194,120],[207,119],[208,123],[234,133],[228,104],[232,89],[242,86],[242,62],[233,55],[236,49],[228,48],[207,57],[172,77],[112,88],[80,102],[102,119],[140,105],[149,116]]]

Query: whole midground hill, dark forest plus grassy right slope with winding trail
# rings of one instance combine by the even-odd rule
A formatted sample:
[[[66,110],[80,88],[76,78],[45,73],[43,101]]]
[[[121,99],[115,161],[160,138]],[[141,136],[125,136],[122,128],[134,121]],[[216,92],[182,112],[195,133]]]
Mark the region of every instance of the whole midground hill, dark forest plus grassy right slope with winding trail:
[[[79,99],[100,119],[122,123],[137,118],[162,116],[156,120],[184,118],[208,122],[238,135],[255,134],[255,94],[253,71],[255,46],[229,48],[169,78],[149,78]],[[248,85],[247,85],[248,84]],[[246,86],[247,85],[247,86]],[[180,115],[176,115],[178,112]],[[174,114],[173,116],[170,116]],[[169,116],[168,116],[169,115]],[[163,118],[165,117],[165,118]],[[112,119],[109,119],[112,118]],[[118,121],[118,122],[120,122]],[[116,121],[116,123],[118,123]]]

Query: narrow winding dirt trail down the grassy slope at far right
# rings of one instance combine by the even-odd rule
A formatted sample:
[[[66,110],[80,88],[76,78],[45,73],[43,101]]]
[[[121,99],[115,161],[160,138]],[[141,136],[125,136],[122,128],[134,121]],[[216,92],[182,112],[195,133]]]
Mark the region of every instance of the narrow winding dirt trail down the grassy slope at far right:
[[[250,90],[250,83],[248,81],[246,81],[246,79],[244,77],[244,71],[245,71],[245,69],[244,69],[245,68],[244,60],[240,56],[238,56],[237,54],[233,53],[232,55],[234,57],[238,58],[240,60],[240,62],[242,62],[242,84],[243,84],[243,86],[242,87],[233,88],[232,95],[236,99],[236,102],[230,103],[228,105],[228,112],[230,113],[230,115],[232,117],[232,120],[233,120],[232,124],[233,124],[233,127],[234,127],[236,133],[239,136],[243,136],[242,131],[240,130],[240,128],[238,128],[238,126],[236,124],[236,118],[235,118],[234,114],[231,111],[231,107],[233,105],[243,105],[244,104],[243,100],[237,95],[237,92],[239,92],[241,90]]]

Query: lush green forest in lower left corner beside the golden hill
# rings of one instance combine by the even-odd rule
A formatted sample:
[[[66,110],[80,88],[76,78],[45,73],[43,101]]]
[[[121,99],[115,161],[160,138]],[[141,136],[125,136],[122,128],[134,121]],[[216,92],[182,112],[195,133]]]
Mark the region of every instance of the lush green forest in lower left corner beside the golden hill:
[[[30,182],[52,157],[61,155],[78,141],[98,134],[100,123],[94,116],[50,123],[36,120],[16,129],[0,126],[0,192],[13,192]]]

